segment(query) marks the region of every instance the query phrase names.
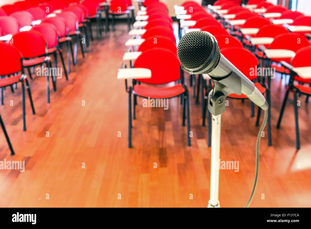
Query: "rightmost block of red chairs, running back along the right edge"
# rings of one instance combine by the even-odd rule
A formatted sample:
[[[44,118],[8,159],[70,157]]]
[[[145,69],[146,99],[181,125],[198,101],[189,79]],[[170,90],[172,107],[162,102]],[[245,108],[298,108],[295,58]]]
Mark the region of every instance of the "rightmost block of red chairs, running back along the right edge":
[[[256,34],[243,36],[243,34],[235,33],[240,37],[247,38],[243,40],[244,46],[246,45],[251,51],[255,53],[258,59],[262,60],[262,63],[267,63],[267,67],[276,69],[285,76],[290,75],[288,85],[286,86],[286,93],[283,99],[280,115],[276,128],[280,128],[282,116],[285,110],[285,105],[289,96],[289,92],[294,92],[294,101],[297,100],[297,93],[306,95],[306,102],[308,102],[311,94],[311,79],[299,77],[297,73],[291,70],[292,67],[309,67],[311,56],[310,42],[306,37],[310,37],[304,31],[302,32],[290,32],[287,28],[282,25],[274,25],[270,20],[255,15],[255,12],[245,11],[245,8],[239,6],[233,6],[234,4],[227,1],[217,1],[216,4],[221,5],[221,9],[228,9],[228,14],[236,13],[234,19],[247,19],[241,26],[242,28],[258,28],[259,31]],[[283,6],[274,6],[268,2],[261,2],[251,0],[248,4],[257,4],[257,8],[266,8],[265,12],[278,12],[281,13],[280,17],[274,19],[292,19],[293,22],[289,23],[293,26],[311,26],[311,17],[304,16],[300,12],[293,12],[286,9]],[[249,41],[250,37],[271,37],[273,38],[272,43],[262,45],[252,45]],[[264,49],[275,49],[275,50],[291,50],[295,53],[292,57],[283,58],[267,58]],[[290,66],[290,67],[289,67]],[[286,79],[286,78],[285,78]],[[296,83],[295,83],[296,82]],[[268,78],[268,87],[270,89],[270,82]],[[306,85],[305,85],[306,84]],[[295,109],[295,125],[296,125],[296,148],[300,148],[300,136],[299,136],[299,124],[298,124],[298,107],[294,105]]]

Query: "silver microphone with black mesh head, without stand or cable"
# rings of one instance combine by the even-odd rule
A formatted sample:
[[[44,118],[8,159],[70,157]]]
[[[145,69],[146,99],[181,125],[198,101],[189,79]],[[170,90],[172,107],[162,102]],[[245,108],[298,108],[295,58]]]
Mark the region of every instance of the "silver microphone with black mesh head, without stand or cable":
[[[239,69],[221,53],[216,38],[206,31],[191,31],[181,37],[177,47],[178,59],[191,74],[208,74],[213,80],[213,91],[225,96],[243,93],[253,103],[268,109],[265,97]]]

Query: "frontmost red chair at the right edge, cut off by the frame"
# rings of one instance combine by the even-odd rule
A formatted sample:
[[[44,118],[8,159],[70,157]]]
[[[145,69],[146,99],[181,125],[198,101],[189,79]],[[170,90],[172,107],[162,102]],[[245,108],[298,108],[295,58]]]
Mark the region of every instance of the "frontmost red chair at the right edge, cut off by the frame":
[[[297,50],[296,55],[290,60],[290,64],[293,67],[308,67],[311,63],[311,46],[303,47],[299,50]],[[286,67],[286,66],[285,66]],[[291,69],[290,69],[291,70]],[[285,106],[287,103],[287,99],[289,96],[289,93],[291,91],[294,92],[294,113],[295,113],[295,129],[296,129],[296,149],[300,149],[300,135],[299,135],[299,123],[298,123],[298,106],[297,106],[297,93],[306,95],[306,103],[308,102],[308,98],[311,95],[311,87],[305,86],[302,84],[294,84],[294,80],[297,80],[300,83],[311,83],[311,79],[303,79],[299,77],[295,72],[292,70],[290,71],[290,81],[288,84],[288,87],[286,89],[286,93],[283,99],[280,116],[277,121],[276,128],[280,129],[281,127],[281,121],[284,114]]]

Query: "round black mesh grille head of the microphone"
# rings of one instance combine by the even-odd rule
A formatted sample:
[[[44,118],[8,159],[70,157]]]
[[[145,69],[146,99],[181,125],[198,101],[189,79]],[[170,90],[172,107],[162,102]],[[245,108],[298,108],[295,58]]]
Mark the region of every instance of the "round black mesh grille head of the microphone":
[[[186,71],[200,68],[200,70],[205,70],[200,72],[200,74],[205,74],[217,66],[220,59],[220,51],[215,37],[210,33],[191,31],[180,39],[177,47],[177,56]],[[217,57],[216,61],[211,64],[214,57]],[[207,65],[209,67],[206,69]]]

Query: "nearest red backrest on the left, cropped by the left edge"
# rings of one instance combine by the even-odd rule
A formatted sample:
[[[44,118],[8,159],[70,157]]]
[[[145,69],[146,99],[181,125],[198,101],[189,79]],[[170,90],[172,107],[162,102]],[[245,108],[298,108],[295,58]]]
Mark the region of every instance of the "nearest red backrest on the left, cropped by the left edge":
[[[0,53],[10,55],[0,55],[0,75],[9,75],[21,71],[21,52],[13,45],[0,43]]]

